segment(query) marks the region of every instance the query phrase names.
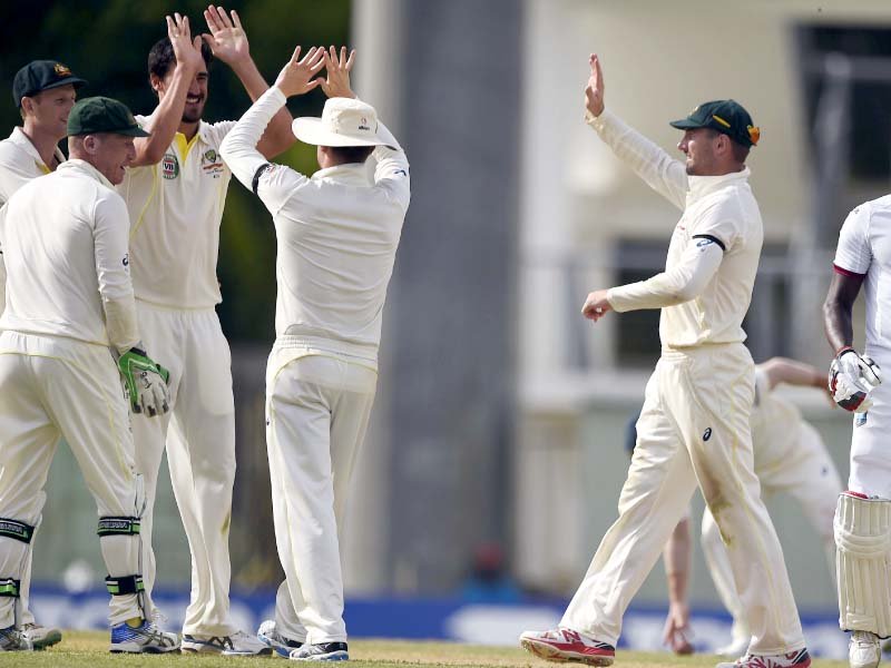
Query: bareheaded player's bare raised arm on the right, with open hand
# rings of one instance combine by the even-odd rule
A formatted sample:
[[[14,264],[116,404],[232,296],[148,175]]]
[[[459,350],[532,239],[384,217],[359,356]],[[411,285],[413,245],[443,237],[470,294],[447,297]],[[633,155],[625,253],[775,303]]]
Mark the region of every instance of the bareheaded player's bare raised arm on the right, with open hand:
[[[229,13],[231,16],[222,7],[209,4],[204,11],[204,18],[210,33],[205,33],[203,37],[210,45],[214,57],[232,68],[247,95],[251,96],[251,101],[255,102],[268,90],[270,86],[251,57],[247,33],[238,18],[238,12],[233,10]],[[263,156],[274,158],[294,144],[296,139],[291,131],[292,120],[287,107],[282,105],[257,144],[257,149]]]

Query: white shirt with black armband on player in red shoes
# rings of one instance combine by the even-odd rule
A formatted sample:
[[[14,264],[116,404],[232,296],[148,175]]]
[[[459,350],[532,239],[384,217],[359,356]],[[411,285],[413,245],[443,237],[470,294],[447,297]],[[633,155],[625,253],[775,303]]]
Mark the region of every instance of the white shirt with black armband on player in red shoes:
[[[687,176],[684,163],[609,111],[589,117],[588,122],[618,158],[684,212],[672,235],[665,272],[610,289],[613,308],[660,307],[659,337],[669,348],[745,341],[743,317],[752,299],[764,239],[748,168],[724,176]],[[724,255],[711,267],[711,279],[696,295],[679,295],[678,275],[693,271],[688,265],[697,248],[712,245]]]

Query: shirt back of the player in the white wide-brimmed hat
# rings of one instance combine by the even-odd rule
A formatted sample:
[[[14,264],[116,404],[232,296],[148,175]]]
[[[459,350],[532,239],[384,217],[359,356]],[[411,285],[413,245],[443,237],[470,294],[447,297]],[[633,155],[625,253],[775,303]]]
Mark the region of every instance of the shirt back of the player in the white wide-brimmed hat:
[[[362,165],[317,173],[275,216],[278,335],[310,332],[376,355],[405,203]]]

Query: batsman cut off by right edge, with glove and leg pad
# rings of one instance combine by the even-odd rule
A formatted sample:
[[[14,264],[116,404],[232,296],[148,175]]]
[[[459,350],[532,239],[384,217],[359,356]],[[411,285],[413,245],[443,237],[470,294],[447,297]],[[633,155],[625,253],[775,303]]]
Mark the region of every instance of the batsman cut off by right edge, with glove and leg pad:
[[[830,391],[853,411],[851,471],[848,491],[835,511],[839,625],[853,631],[849,645],[852,668],[874,668],[881,659],[880,638],[891,636],[891,387],[881,384],[879,367],[891,366],[888,276],[891,253],[885,242],[891,196],[861,204],[842,225],[834,273],[823,316],[835,352]],[[853,305],[865,293],[864,355],[853,347]]]

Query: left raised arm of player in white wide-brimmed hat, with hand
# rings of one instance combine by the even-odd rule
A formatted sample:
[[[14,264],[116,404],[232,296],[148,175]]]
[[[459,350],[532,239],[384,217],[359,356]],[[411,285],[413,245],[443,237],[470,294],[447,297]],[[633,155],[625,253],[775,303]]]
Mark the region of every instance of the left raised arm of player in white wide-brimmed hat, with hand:
[[[219,147],[223,159],[235,178],[255,195],[260,195],[263,204],[273,214],[278,212],[294,188],[306,180],[291,168],[268,163],[257,147],[270,120],[284,107],[290,96],[303,95],[320,86],[319,79],[313,77],[324,66],[324,51],[313,47],[303,59],[300,58],[300,52],[301,48],[297,47],[275,85],[242,116]],[[275,186],[261,189],[261,179],[270,181],[272,177],[275,177]]]

